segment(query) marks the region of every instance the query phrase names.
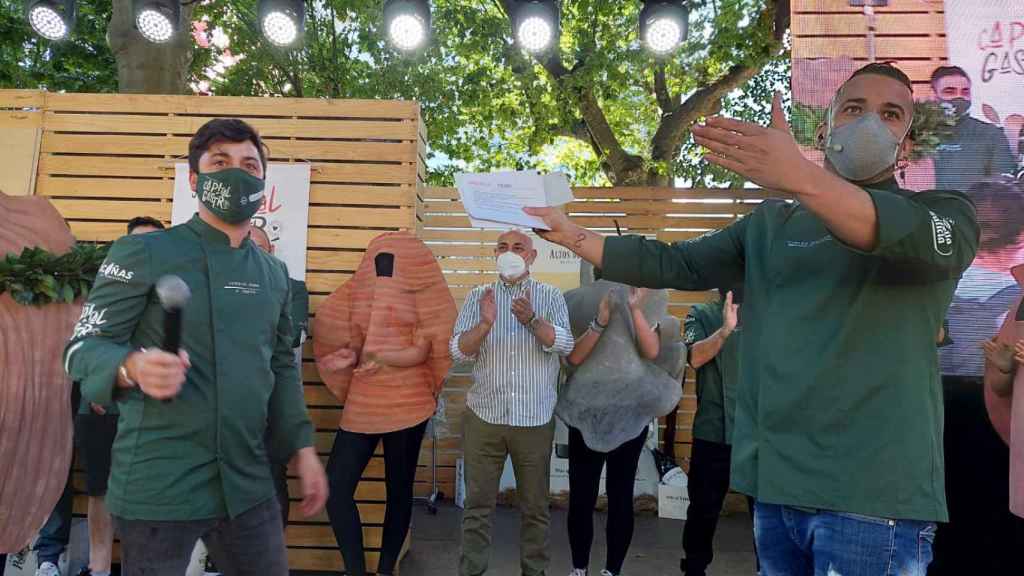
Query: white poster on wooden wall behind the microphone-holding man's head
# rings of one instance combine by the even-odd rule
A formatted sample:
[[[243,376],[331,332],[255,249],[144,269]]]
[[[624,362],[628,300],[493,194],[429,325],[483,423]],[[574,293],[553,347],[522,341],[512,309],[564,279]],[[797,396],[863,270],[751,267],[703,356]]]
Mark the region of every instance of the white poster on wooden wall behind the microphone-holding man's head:
[[[263,206],[253,225],[266,231],[274,255],[288,264],[295,280],[306,279],[306,234],[309,225],[309,165],[269,164]],[[198,210],[196,193],[188,187],[188,164],[174,165],[174,204],[171,223],[188,221]]]

